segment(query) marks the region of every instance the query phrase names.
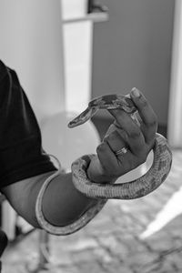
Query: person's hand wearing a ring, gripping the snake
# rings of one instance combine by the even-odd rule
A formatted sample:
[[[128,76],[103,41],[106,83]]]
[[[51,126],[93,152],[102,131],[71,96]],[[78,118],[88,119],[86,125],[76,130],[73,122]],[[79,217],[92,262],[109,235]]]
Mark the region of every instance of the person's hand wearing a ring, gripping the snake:
[[[155,143],[157,116],[145,96],[133,88],[130,97],[139,114],[140,126],[124,110],[108,110],[115,117],[88,169],[88,178],[97,183],[114,182],[143,164]],[[116,156],[123,147],[124,153]]]

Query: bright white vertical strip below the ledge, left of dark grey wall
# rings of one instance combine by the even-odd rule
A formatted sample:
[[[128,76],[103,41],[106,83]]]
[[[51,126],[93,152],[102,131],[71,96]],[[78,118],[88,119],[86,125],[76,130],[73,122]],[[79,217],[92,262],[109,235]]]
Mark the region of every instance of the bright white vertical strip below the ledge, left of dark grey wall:
[[[64,24],[66,110],[82,112],[91,99],[93,23]]]

